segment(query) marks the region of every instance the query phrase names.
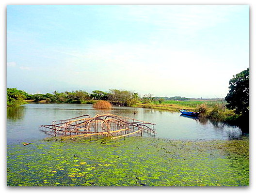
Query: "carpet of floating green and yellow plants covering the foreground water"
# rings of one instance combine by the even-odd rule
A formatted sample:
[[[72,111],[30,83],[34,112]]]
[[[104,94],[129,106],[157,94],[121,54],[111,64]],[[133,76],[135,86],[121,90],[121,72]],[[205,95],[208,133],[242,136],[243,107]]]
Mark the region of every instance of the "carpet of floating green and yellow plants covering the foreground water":
[[[249,139],[128,137],[8,146],[7,185],[248,186]]]

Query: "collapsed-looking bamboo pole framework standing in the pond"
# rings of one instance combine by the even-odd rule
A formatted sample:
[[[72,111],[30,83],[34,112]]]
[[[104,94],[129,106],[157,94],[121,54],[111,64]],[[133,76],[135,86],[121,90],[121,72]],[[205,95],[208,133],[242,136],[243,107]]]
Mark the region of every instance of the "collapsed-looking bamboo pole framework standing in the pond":
[[[155,135],[154,123],[121,117],[112,114],[82,115],[67,120],[54,120],[51,125],[41,125],[39,129],[50,136],[80,138],[102,135],[118,139],[129,135],[142,136],[143,133]]]

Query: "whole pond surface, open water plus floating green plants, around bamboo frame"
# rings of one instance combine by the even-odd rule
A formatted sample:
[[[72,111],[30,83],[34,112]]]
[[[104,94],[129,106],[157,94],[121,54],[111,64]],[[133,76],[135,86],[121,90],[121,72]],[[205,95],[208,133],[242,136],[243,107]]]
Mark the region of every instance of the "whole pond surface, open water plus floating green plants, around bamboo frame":
[[[38,130],[51,120],[108,112],[156,122],[157,135],[42,141],[47,135]],[[7,114],[9,186],[249,185],[248,136],[221,122],[148,108],[79,104],[28,104],[8,107]]]

